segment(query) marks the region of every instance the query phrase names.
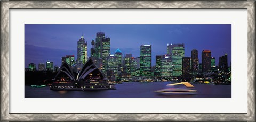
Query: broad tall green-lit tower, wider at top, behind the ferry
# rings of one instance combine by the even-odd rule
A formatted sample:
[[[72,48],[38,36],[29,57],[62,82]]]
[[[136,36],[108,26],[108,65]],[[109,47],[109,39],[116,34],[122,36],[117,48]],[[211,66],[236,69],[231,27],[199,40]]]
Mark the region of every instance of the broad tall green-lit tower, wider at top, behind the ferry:
[[[172,59],[172,75],[182,75],[182,57],[184,57],[185,46],[184,44],[167,44],[167,54]]]

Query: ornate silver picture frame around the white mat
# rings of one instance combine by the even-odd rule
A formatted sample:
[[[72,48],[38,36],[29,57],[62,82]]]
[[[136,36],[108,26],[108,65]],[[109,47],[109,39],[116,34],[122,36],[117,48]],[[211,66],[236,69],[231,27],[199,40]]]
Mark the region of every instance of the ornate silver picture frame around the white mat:
[[[247,9],[247,114],[10,114],[9,9],[11,8],[243,8]],[[255,121],[255,1],[1,1],[1,121]]]

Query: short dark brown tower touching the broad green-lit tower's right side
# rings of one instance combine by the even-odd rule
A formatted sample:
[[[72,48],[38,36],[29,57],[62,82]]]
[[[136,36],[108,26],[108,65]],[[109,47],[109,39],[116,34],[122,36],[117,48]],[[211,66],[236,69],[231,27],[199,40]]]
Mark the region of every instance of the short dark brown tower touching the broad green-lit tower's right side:
[[[185,79],[188,79],[190,75],[190,62],[190,57],[182,58],[182,76]]]

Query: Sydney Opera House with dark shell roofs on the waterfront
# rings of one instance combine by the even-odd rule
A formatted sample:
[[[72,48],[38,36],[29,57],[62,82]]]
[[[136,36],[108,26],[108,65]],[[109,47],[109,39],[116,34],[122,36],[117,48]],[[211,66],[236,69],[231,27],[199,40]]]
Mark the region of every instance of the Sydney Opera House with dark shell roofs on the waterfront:
[[[51,90],[106,90],[115,89],[107,83],[107,79],[89,58],[81,71],[74,75],[70,65],[61,65],[53,79]]]

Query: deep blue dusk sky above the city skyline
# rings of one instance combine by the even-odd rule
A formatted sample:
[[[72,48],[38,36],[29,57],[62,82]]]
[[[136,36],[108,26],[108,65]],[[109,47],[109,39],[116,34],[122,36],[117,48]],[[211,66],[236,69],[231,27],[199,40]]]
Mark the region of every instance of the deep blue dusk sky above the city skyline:
[[[61,65],[61,57],[75,55],[77,41],[84,35],[88,56],[91,40],[97,32],[110,37],[110,52],[117,48],[122,54],[140,56],[140,45],[152,45],[152,66],[155,56],[167,53],[167,43],[184,43],[185,56],[191,57],[191,50],[198,50],[199,63],[202,51],[211,50],[212,57],[219,63],[219,57],[228,54],[231,60],[231,24],[26,24],[25,25],[25,68],[29,63],[53,61]]]

